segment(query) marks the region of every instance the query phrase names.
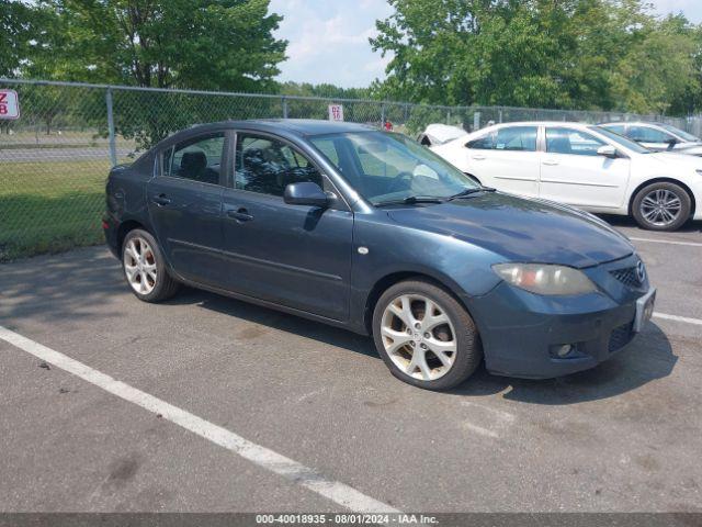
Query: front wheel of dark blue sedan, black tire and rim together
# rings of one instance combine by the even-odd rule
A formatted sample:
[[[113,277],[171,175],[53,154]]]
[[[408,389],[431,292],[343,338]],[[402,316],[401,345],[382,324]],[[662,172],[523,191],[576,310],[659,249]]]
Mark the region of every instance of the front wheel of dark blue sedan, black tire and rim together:
[[[449,390],[476,370],[483,358],[477,328],[443,289],[420,280],[399,282],[373,312],[378,354],[399,380],[426,390]]]

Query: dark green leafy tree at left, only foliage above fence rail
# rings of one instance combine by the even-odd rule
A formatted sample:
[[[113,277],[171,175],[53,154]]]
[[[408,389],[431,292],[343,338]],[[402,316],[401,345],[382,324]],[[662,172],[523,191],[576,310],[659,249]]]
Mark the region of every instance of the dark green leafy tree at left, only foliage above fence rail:
[[[52,63],[61,80],[158,88],[270,90],[285,41],[269,0],[42,0],[58,14]],[[32,68],[30,68],[32,70]]]

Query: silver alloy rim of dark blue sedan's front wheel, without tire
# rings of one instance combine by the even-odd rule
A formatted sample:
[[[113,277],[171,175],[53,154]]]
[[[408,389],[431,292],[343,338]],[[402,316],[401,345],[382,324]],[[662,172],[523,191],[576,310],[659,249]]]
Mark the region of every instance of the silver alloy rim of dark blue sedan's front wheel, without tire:
[[[393,363],[415,379],[440,379],[455,362],[453,324],[446,312],[424,295],[394,299],[383,312],[381,337]]]

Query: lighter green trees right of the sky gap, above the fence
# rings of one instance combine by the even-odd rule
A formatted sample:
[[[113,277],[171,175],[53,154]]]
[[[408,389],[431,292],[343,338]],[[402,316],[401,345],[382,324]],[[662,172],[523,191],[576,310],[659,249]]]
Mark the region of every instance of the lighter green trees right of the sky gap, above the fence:
[[[380,97],[442,104],[702,110],[702,27],[639,0],[388,0]]]

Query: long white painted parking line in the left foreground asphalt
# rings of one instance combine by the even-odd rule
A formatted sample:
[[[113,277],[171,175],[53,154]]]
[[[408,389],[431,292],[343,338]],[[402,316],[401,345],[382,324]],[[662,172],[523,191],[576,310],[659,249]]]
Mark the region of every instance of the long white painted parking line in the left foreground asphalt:
[[[70,357],[31,340],[22,335],[0,326],[0,339],[15,346],[27,354],[49,362],[61,370],[72,373],[84,381],[103,389],[125,401],[136,404],[154,414],[160,414],[193,434],[203,437],[215,445],[230,450],[245,459],[286,478],[305,489],[308,489],[332,502],[359,513],[398,513],[394,507],[378,502],[355,489],[329,480],[313,469],[305,467],[273,450],[251,442],[237,434],[210,423],[182,408],[173,406],[160,399],[141,392],[136,388],[117,381],[98,370],[90,368]]]

